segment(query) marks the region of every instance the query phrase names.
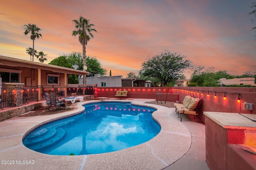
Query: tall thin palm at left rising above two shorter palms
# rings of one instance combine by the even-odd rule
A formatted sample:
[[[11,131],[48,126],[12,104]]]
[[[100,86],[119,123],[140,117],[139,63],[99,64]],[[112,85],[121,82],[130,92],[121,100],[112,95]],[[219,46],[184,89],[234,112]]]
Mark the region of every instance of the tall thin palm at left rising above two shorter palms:
[[[41,29],[38,28],[35,24],[29,23],[28,25],[23,25],[24,28],[24,35],[28,35],[30,33],[30,39],[33,40],[33,51],[34,51],[34,41],[36,38],[41,37],[42,34],[40,33]],[[32,53],[32,61],[34,61],[35,53]]]

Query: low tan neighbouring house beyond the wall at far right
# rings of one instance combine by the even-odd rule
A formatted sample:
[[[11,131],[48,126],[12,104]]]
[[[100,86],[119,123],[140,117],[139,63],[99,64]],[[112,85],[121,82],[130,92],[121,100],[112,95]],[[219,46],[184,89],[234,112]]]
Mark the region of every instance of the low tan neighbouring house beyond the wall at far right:
[[[220,80],[220,86],[228,86],[228,85],[252,85],[255,86],[255,78],[254,77],[246,77],[246,78],[233,78],[233,79],[226,79],[221,78]]]

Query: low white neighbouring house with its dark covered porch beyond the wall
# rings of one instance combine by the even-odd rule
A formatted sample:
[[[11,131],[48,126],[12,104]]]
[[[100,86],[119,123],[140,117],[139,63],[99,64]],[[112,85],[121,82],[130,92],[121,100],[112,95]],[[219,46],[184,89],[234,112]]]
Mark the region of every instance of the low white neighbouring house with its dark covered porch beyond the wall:
[[[80,82],[82,82],[82,78],[79,78]],[[94,77],[86,77],[86,84],[97,84],[97,87],[150,87],[151,81],[140,78],[94,74]]]

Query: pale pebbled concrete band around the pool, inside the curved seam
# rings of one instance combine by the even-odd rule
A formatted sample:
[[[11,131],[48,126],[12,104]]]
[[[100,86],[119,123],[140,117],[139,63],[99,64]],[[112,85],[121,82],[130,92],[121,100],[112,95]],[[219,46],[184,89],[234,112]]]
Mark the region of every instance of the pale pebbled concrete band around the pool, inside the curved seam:
[[[75,115],[84,111],[82,105],[99,100],[76,102],[76,109],[62,113],[7,119],[0,122],[0,158],[14,160],[14,164],[1,164],[4,169],[163,169],[180,159],[190,149],[192,136],[188,128],[170,116],[174,111],[168,107],[146,104],[144,100],[104,100],[103,102],[131,102],[139,106],[157,108],[152,114],[160,124],[161,131],[156,137],[140,145],[102,154],[58,156],[30,150],[22,144],[26,133],[46,122]],[[8,128],[8,129],[6,129]],[[6,131],[4,131],[6,129]],[[21,164],[25,160],[25,164]],[[26,160],[28,164],[26,164]],[[30,163],[30,161],[34,161]],[[18,161],[18,162],[17,162]],[[7,163],[7,162],[6,162]]]

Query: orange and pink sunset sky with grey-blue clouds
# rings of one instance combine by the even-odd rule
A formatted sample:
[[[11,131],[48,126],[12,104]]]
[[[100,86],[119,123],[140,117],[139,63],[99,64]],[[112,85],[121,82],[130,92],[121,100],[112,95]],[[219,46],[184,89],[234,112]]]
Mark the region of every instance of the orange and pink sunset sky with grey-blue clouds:
[[[0,55],[30,61],[24,24],[36,24],[42,38],[35,49],[49,63],[62,54],[82,52],[72,37],[72,20],[83,16],[98,33],[86,55],[96,57],[112,76],[138,74],[148,57],[178,52],[195,66],[214,66],[241,75],[256,71],[254,0],[0,0]],[[36,57],[35,62],[39,62]],[[190,78],[186,73],[187,78]]]

